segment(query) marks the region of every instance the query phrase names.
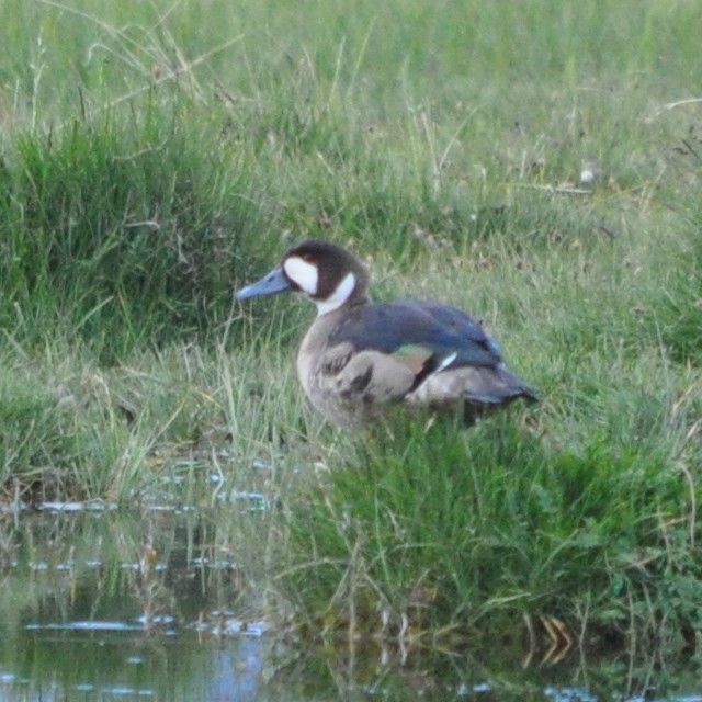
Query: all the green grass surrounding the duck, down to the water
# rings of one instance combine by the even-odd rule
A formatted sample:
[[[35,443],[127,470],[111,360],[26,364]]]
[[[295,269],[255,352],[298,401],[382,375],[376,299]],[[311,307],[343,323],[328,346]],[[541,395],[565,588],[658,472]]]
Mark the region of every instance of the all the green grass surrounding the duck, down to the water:
[[[0,10],[5,501],[264,494],[313,636],[699,645],[694,3]],[[309,310],[231,299],[306,236],[483,319],[541,407],[326,427]]]

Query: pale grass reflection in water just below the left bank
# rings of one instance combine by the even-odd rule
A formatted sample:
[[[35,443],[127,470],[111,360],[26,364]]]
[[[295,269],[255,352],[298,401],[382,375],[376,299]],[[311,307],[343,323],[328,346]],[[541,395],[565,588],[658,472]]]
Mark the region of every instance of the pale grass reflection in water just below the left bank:
[[[218,611],[260,619],[262,593],[254,584],[263,559],[247,543],[256,543],[265,525],[241,514],[230,521],[217,529],[207,513],[150,511],[3,520],[0,618],[8,636],[21,635],[26,622],[39,629],[118,622],[154,633],[200,624],[205,634],[222,624]]]

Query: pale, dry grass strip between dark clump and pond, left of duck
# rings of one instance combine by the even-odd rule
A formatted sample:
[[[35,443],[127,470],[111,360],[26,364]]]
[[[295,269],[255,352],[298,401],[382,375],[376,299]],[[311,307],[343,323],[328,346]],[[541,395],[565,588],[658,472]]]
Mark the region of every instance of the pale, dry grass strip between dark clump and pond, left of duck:
[[[286,350],[271,349],[261,338],[238,353],[171,346],[103,367],[75,339],[38,360],[14,341],[0,359],[2,500],[192,507],[256,491],[273,502],[317,460],[321,427],[301,411],[292,374],[279,377]]]

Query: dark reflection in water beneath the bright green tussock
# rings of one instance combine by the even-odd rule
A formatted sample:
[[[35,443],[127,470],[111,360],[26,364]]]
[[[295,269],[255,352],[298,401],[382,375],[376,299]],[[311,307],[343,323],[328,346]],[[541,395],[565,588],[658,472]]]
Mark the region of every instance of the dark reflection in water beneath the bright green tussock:
[[[671,660],[660,670],[653,657],[634,661],[611,650],[580,652],[558,666],[525,665],[521,646],[511,642],[467,645],[461,650],[397,649],[377,641],[356,646],[312,648],[297,661],[292,690],[303,700],[335,699],[349,690],[373,690],[388,699],[536,700],[554,693],[564,699],[637,699],[655,686],[664,699],[694,699],[699,676]],[[283,678],[285,679],[285,678]]]

